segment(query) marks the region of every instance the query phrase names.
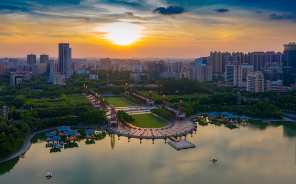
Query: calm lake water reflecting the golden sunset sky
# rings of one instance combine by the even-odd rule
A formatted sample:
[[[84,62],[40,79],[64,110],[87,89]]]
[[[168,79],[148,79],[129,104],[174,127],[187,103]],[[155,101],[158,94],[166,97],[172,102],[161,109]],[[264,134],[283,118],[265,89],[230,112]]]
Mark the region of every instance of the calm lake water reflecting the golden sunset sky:
[[[226,127],[205,120],[177,151],[164,140],[98,132],[60,152],[46,148],[45,133],[24,155],[0,164],[0,183],[295,183],[295,125],[253,123]],[[184,137],[182,137],[184,139]],[[168,140],[167,140],[168,141]],[[210,162],[215,156],[217,163]],[[53,177],[47,179],[45,174]]]

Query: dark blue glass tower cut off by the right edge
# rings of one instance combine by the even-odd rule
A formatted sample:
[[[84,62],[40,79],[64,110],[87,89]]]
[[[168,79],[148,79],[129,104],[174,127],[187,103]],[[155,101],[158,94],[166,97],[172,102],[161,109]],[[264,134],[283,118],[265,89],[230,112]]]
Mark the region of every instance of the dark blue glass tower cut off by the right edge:
[[[293,84],[296,79],[296,43],[284,44],[283,54],[283,83]]]

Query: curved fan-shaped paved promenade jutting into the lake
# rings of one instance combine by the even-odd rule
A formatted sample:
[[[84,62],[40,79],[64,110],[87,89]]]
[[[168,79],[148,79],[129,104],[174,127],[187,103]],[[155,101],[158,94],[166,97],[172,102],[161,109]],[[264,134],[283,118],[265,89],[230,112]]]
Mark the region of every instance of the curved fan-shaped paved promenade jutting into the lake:
[[[173,121],[168,122],[167,126],[161,127],[161,128],[140,128],[131,125],[130,127],[127,126],[118,126],[118,127],[112,127],[111,129],[108,129],[108,131],[121,135],[121,136],[129,136],[131,138],[138,138],[140,139],[140,134],[142,134],[142,139],[152,139],[152,136],[154,134],[154,139],[163,139],[165,134],[166,137],[171,136],[183,136],[185,134],[191,133],[193,130],[195,130],[195,124],[188,120],[183,121]],[[185,133],[186,131],[186,133]]]

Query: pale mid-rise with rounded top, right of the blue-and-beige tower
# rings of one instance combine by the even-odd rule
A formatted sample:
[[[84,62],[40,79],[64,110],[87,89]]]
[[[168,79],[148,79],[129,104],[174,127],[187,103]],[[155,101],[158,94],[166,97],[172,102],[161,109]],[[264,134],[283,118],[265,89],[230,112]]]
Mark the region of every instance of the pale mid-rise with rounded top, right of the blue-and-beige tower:
[[[264,77],[262,72],[251,72],[247,76],[247,91],[264,92]]]

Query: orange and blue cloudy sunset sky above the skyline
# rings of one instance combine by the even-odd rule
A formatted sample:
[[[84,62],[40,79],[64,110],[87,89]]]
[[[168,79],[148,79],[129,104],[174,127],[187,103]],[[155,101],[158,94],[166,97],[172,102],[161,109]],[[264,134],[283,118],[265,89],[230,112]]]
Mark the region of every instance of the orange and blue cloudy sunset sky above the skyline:
[[[293,0],[1,0],[0,57],[206,57],[283,52],[296,41]]]

